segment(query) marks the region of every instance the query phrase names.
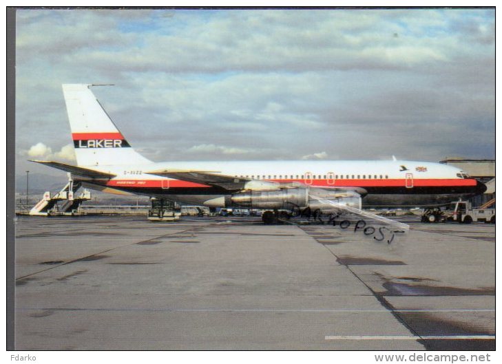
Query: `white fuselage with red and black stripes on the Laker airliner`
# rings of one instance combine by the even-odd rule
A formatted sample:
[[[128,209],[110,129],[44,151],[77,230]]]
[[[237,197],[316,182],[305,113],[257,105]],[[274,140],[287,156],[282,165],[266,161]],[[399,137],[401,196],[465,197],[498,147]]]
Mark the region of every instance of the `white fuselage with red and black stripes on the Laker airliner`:
[[[439,206],[479,193],[482,187],[460,169],[432,162],[392,161],[236,161],[160,162],[92,167],[112,173],[110,180],[92,184],[109,189],[203,204],[227,191],[149,174],[159,169],[205,171],[251,180],[300,182],[317,187],[361,187],[367,207]]]

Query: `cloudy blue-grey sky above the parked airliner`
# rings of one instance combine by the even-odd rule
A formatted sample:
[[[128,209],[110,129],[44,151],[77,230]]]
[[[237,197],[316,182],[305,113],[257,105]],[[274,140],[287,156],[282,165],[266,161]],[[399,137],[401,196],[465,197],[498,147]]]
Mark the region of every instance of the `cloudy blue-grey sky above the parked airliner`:
[[[62,83],[145,157],[495,158],[494,9],[17,11],[17,173],[74,162]],[[63,173],[63,172],[61,172]]]

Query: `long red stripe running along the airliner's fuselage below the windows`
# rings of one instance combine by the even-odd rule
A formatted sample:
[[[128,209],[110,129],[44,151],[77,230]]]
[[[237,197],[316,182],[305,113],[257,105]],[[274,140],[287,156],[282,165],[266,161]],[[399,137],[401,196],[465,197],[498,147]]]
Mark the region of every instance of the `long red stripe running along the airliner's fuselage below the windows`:
[[[313,187],[404,187],[406,186],[406,181],[404,179],[391,180],[335,180],[333,184],[328,183],[328,180],[312,180],[311,184],[307,184],[310,181],[305,182],[305,180],[273,180],[275,182],[300,182],[306,186]],[[331,182],[331,180],[329,180]],[[409,183],[409,181],[408,181]],[[171,187],[210,187],[206,184],[198,184],[194,182],[187,182],[182,180],[109,180],[107,181],[107,186],[116,187],[163,187],[165,189]],[[453,187],[453,186],[476,186],[476,180],[472,179],[414,179],[414,187]]]

